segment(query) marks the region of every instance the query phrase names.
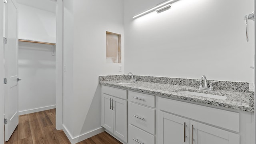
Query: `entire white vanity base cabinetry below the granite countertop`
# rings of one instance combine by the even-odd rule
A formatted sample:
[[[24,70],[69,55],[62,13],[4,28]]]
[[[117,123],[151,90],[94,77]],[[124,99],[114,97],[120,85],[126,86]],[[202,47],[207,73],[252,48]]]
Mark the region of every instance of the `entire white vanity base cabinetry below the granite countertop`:
[[[102,127],[124,144],[254,144],[254,114],[102,85]]]

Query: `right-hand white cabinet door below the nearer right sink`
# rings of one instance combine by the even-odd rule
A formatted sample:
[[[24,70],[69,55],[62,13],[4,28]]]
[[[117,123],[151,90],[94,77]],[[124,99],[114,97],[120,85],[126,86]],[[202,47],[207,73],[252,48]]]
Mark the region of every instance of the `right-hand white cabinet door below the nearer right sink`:
[[[240,144],[240,136],[238,134],[200,122],[191,120],[190,129],[191,144]]]

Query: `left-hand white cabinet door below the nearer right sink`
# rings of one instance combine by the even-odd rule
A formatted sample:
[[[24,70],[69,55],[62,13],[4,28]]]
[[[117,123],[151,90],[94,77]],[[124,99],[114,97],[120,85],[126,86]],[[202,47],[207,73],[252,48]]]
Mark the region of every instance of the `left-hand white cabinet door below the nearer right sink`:
[[[160,111],[158,144],[190,144],[190,120]]]

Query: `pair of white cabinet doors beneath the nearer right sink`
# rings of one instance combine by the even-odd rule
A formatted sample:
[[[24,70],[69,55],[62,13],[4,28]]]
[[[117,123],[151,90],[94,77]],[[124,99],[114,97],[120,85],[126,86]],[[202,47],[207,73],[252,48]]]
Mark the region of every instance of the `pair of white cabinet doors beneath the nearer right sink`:
[[[238,134],[159,112],[159,144],[240,144]]]

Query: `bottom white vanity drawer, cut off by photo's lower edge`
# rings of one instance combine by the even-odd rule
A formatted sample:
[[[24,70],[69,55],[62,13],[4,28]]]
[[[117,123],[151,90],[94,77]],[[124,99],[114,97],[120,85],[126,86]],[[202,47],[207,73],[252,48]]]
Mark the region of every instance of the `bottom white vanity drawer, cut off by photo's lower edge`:
[[[154,144],[155,136],[129,124],[129,144]],[[137,140],[137,141],[136,141]],[[140,142],[140,143],[139,143]]]

